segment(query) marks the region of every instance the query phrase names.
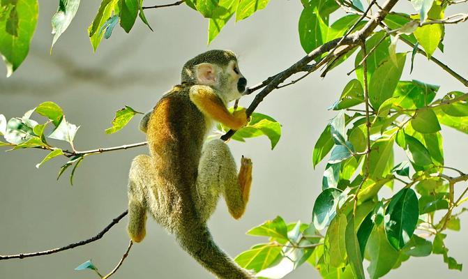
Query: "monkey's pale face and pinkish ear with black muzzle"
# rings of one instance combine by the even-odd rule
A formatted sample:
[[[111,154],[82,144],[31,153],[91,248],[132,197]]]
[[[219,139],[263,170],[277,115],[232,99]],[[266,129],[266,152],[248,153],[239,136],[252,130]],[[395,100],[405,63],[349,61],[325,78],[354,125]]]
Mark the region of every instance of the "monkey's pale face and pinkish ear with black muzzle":
[[[241,98],[247,89],[247,80],[236,61],[230,61],[225,67],[211,63],[197,65],[197,82],[217,89],[225,103]]]

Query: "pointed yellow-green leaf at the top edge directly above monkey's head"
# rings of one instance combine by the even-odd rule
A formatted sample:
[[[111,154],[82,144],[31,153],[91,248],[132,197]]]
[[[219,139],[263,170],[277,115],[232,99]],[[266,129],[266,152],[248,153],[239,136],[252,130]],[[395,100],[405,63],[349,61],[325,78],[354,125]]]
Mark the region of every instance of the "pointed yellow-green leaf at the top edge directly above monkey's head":
[[[236,12],[239,1],[236,0],[220,0],[218,7],[213,11],[213,17],[209,20],[208,27],[208,43],[211,43],[225,27],[232,15]]]

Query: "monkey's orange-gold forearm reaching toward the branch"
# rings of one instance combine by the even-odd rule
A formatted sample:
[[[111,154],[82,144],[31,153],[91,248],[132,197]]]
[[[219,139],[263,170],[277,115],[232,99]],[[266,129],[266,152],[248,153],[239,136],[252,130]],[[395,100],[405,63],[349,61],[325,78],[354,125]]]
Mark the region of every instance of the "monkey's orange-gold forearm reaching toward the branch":
[[[238,110],[231,114],[209,86],[192,86],[190,100],[205,115],[233,130],[247,125],[246,110]]]

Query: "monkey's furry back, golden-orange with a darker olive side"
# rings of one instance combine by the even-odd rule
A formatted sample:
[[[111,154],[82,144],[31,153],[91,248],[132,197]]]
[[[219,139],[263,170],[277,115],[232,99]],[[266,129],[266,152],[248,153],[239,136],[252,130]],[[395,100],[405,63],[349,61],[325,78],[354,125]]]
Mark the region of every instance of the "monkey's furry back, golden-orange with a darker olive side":
[[[177,229],[174,226],[198,218],[190,215],[196,214],[192,197],[206,121],[190,100],[189,87],[174,86],[159,100],[149,119],[147,135],[156,169],[156,185],[152,190],[160,206],[153,216],[169,231],[174,231]],[[171,216],[170,220],[166,220],[167,216]]]

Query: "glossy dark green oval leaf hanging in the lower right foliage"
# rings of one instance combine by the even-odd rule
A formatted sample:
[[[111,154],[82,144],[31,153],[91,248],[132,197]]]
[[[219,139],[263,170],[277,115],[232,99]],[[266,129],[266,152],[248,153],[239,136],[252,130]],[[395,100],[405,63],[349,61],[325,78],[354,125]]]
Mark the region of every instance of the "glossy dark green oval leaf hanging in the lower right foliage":
[[[411,188],[396,193],[386,209],[385,231],[388,242],[401,250],[413,235],[418,223],[418,198]]]

